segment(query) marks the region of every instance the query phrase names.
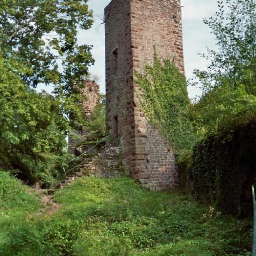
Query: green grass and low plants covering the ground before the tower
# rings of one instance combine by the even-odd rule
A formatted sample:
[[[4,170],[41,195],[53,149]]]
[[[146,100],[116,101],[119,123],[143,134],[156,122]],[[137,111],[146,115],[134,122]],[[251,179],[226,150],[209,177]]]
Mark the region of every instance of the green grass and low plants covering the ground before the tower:
[[[250,255],[252,220],[222,215],[179,191],[88,177],[54,198],[62,207],[53,216],[11,217],[1,255]]]

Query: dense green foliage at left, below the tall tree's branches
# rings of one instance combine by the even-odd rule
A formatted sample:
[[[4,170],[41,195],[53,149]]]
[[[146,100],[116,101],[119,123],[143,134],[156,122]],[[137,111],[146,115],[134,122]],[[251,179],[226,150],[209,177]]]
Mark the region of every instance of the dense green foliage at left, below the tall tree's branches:
[[[17,75],[23,72],[26,67],[0,54],[0,167],[17,170],[29,183],[50,182],[65,157],[69,123],[59,99],[26,86]]]

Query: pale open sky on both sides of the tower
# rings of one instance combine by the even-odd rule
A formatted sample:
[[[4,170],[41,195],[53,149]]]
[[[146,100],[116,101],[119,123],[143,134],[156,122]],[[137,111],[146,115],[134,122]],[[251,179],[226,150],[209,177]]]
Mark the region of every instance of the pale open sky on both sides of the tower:
[[[98,77],[100,91],[105,93],[105,35],[104,24],[100,16],[111,0],[89,0],[89,8],[94,12],[94,25],[87,31],[79,31],[79,44],[93,45],[92,55],[95,64],[89,72]],[[183,44],[186,78],[193,76],[193,69],[205,69],[207,61],[199,56],[206,52],[206,46],[215,48],[214,37],[209,28],[203,23],[203,18],[214,15],[217,10],[217,0],[181,0],[183,20]],[[200,95],[201,91],[195,87],[188,87],[190,98]]]

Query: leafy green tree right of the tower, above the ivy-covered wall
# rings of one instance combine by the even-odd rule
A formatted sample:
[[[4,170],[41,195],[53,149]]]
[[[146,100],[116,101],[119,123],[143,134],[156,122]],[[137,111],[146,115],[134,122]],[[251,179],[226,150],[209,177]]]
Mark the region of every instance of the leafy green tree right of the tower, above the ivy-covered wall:
[[[256,120],[256,3],[226,0],[218,6],[215,16],[205,20],[218,50],[203,55],[210,60],[205,71],[195,70],[203,89],[195,115],[204,137]]]

